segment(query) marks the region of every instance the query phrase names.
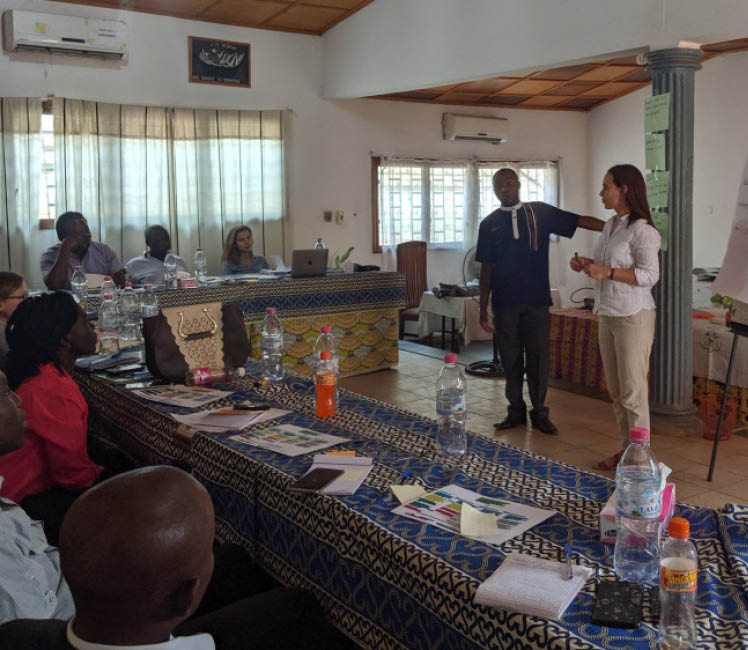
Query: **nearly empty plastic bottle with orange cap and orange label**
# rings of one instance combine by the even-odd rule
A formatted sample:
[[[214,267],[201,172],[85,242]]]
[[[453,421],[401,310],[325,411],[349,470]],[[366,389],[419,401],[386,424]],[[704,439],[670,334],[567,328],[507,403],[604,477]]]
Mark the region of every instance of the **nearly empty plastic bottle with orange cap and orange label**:
[[[673,517],[668,532],[660,551],[660,647],[689,650],[696,647],[699,556],[688,539],[688,519]]]

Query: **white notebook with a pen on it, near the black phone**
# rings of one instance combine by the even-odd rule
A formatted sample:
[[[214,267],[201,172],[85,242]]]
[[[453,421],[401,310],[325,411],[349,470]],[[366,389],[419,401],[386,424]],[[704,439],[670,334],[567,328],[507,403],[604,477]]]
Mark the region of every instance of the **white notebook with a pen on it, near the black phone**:
[[[567,580],[565,562],[510,553],[491,577],[478,587],[474,602],[558,620],[591,573],[592,569],[575,565],[574,577]]]

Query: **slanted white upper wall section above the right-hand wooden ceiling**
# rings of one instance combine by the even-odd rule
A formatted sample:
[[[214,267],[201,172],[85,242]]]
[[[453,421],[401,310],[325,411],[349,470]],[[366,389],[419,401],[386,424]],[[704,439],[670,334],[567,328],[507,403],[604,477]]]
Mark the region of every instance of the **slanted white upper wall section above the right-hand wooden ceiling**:
[[[744,0],[377,0],[324,35],[324,94],[428,88],[746,33]]]

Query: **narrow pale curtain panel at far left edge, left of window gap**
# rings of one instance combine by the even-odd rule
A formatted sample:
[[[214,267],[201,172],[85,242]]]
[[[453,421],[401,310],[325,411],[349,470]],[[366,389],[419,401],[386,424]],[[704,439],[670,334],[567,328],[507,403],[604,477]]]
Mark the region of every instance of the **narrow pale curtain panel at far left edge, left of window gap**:
[[[41,255],[41,100],[3,98],[0,107],[0,268],[33,278]]]

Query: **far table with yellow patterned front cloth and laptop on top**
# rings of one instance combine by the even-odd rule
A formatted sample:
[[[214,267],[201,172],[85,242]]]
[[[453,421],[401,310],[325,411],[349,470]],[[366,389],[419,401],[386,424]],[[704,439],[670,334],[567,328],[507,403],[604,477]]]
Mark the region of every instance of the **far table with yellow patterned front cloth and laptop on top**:
[[[398,361],[398,310],[405,308],[405,276],[400,273],[269,277],[199,289],[160,289],[156,295],[162,308],[238,304],[256,359],[265,309],[276,307],[285,331],[283,365],[297,374],[312,374],[314,343],[324,325],[333,328],[344,377],[388,368]],[[89,302],[98,308],[98,297]]]

